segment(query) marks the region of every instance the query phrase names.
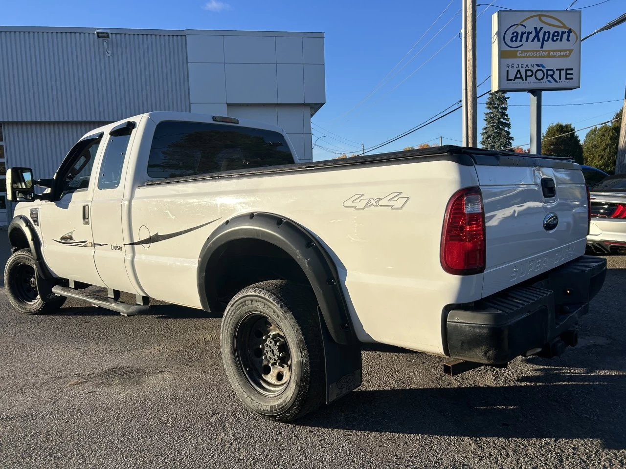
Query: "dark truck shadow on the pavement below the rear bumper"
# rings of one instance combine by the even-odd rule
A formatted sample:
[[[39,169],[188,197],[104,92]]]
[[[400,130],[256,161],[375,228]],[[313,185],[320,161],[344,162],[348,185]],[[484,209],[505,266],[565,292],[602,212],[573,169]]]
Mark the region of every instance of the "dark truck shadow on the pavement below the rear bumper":
[[[300,425],[475,438],[593,438],[626,448],[623,375],[569,374],[545,384],[353,391]],[[551,382],[552,381],[552,382]]]

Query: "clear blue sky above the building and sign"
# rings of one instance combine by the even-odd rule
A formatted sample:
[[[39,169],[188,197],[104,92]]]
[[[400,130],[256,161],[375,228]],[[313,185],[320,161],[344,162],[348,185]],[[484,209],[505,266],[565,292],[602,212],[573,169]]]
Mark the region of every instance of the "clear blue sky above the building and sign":
[[[312,119],[314,139],[326,135],[319,139],[319,144],[351,153],[357,151],[361,143],[366,148],[371,147],[416,126],[460,98],[461,41],[455,35],[461,28],[461,0],[452,0],[448,6],[449,1],[108,0],[102,3],[24,0],[4,2],[1,21],[3,26],[322,31],[326,34],[326,104]],[[506,8],[565,9],[572,1],[496,0],[493,3]],[[578,0],[573,8],[599,1]],[[491,0],[478,0],[478,3],[489,4]],[[448,8],[441,14],[446,6]],[[617,18],[625,6],[623,0],[610,0],[583,9],[583,35]],[[478,7],[479,83],[491,73],[491,14],[497,9]],[[433,26],[426,32],[431,24]],[[361,103],[423,35],[403,64],[425,44],[426,47]],[[622,24],[582,43],[581,88],[543,93],[544,106],[623,98],[625,38],[626,24]],[[487,81],[478,93],[488,91],[489,87],[490,81]],[[527,93],[510,93],[509,96],[511,105],[528,105]],[[485,98],[480,99],[480,103],[484,103]],[[361,105],[353,109],[359,103]],[[615,102],[545,107],[543,128],[556,121],[573,123],[576,128],[587,127],[610,119],[620,106],[621,103]],[[479,104],[479,139],[484,111],[485,106]],[[509,108],[515,144],[529,141],[528,113],[528,107]],[[585,133],[579,133],[581,139]],[[459,143],[460,111],[378,151],[434,142],[439,136],[444,137],[444,143]],[[334,156],[314,149],[314,159]]]

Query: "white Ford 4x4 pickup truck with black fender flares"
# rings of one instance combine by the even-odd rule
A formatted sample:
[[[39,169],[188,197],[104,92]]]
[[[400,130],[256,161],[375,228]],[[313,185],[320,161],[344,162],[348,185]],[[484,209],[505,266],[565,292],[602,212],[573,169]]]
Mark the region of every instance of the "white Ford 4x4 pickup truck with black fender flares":
[[[606,272],[583,256],[580,166],[455,146],[294,155],[274,126],[156,112],[88,133],[51,179],[9,169],[9,300],[223,312],[233,389],[281,421],[359,386],[362,343],[446,357],[450,374],[576,344]]]

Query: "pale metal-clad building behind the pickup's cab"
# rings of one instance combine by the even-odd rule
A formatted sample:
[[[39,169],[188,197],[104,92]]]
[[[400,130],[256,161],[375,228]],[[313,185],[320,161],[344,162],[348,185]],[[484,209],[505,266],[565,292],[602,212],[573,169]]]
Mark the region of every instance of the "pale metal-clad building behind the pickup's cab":
[[[326,101],[324,34],[0,27],[0,172],[49,178],[92,128],[146,111],[281,126],[311,161],[310,117]],[[0,180],[0,224],[11,216]]]

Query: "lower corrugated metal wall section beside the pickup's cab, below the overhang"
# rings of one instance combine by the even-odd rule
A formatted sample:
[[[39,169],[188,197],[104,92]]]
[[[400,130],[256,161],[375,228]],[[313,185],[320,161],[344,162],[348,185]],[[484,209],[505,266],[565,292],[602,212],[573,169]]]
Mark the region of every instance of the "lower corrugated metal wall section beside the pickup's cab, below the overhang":
[[[33,168],[37,179],[51,178],[74,143],[101,122],[3,124],[6,167]]]

